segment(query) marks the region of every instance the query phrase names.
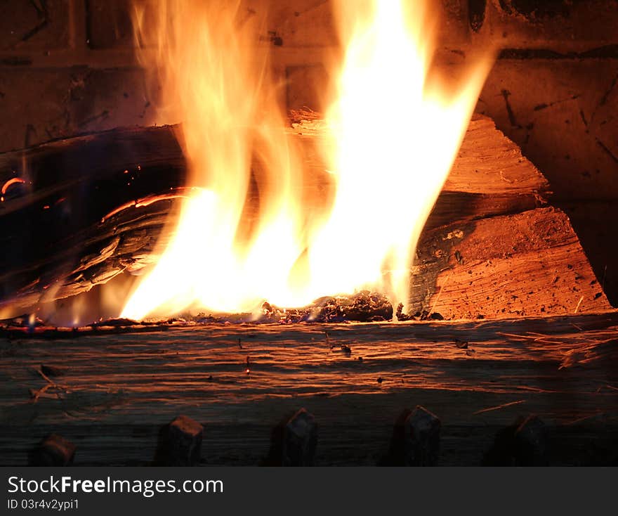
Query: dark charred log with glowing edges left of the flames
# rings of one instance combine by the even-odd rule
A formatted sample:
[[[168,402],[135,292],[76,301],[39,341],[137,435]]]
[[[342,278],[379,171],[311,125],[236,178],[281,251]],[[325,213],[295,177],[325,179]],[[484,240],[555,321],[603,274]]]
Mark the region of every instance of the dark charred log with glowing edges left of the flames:
[[[0,309],[77,295],[148,262],[182,195],[174,131],[114,129],[0,155]],[[105,219],[129,205],[139,207]]]

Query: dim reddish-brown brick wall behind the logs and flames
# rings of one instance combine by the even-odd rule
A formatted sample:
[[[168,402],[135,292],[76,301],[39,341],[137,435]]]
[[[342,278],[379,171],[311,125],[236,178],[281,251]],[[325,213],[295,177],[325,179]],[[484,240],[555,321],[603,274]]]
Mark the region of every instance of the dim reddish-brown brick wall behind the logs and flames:
[[[156,1],[156,0],[152,0]],[[438,0],[437,0],[438,1]],[[320,110],[336,36],[328,0],[268,8],[289,108]],[[439,60],[456,70],[488,39],[501,53],[478,110],[551,181],[618,303],[618,0],[441,0]],[[133,55],[129,0],[0,2],[0,152],[59,136],[162,122]],[[605,279],[604,279],[605,278]]]

